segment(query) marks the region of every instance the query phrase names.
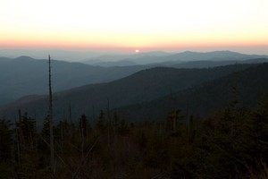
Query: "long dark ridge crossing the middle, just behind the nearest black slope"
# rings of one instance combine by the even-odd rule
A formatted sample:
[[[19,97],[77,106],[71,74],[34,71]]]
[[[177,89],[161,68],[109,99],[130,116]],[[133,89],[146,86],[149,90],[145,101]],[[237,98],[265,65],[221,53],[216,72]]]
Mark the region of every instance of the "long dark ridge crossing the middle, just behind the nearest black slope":
[[[213,81],[231,72],[241,71],[255,64],[238,64],[208,69],[174,69],[158,67],[137,72],[129,77],[108,83],[92,84],[54,93],[54,116],[57,120],[70,114],[74,119],[80,115],[98,114],[109,107],[124,107],[161,98],[180,90]],[[47,114],[47,97],[30,96],[1,107],[0,115],[15,118],[17,111],[43,121]]]

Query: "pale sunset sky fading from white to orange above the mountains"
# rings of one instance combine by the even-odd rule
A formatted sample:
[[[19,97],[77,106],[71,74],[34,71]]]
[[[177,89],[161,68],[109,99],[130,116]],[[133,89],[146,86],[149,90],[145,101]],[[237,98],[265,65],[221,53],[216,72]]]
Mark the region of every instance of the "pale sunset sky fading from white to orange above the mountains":
[[[268,54],[268,0],[0,0],[0,47]]]

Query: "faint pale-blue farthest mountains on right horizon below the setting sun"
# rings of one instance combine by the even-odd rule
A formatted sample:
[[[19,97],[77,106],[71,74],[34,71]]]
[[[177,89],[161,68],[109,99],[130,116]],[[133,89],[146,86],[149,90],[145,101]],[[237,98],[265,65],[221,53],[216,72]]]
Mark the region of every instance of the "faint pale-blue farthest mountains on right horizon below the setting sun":
[[[182,53],[164,53],[161,51],[140,53],[135,55],[106,55],[91,58],[83,63],[99,66],[124,66],[137,64],[150,64],[161,66],[172,66],[196,61],[222,62],[222,61],[245,61],[256,58],[268,58],[268,55],[244,55],[231,51],[214,51],[214,52],[191,52]]]

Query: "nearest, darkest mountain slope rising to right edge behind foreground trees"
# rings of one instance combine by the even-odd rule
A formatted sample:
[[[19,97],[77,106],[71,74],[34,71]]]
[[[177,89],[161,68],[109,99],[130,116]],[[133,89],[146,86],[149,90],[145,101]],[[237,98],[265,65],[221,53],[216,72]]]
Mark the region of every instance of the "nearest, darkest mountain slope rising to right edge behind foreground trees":
[[[180,109],[185,115],[208,116],[234,100],[238,100],[240,107],[256,107],[265,94],[268,94],[267,63],[116,111],[130,121],[163,120],[172,109]]]

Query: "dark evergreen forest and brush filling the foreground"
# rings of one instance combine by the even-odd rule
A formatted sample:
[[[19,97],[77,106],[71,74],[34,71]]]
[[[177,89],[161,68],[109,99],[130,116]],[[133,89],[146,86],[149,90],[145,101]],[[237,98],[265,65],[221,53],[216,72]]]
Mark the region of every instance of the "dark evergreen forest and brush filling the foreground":
[[[268,96],[256,109],[228,107],[207,119],[172,109],[161,123],[129,124],[101,111],[95,124],[0,120],[0,178],[267,178]]]

